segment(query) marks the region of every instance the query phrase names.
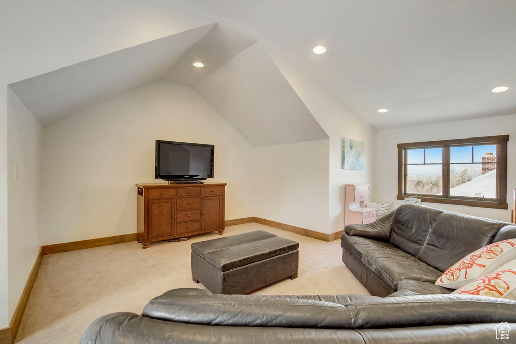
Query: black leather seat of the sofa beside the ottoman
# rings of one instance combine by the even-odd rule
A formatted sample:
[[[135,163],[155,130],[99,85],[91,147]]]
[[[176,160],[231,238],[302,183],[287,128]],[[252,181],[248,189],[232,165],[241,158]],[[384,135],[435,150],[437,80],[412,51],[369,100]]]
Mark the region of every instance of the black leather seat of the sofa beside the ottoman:
[[[344,234],[341,236],[341,245],[344,250],[352,251],[369,270],[394,289],[397,289],[397,281],[400,280],[433,283],[441,276],[440,271],[388,242]]]

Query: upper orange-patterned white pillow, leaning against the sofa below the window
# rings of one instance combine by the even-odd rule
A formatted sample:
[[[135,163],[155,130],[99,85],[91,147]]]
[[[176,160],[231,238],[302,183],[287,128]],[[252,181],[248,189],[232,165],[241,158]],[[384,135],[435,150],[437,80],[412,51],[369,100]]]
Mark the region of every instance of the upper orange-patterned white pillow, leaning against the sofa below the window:
[[[460,288],[477,279],[498,270],[509,261],[516,259],[516,239],[494,242],[465,256],[436,281],[446,288]]]

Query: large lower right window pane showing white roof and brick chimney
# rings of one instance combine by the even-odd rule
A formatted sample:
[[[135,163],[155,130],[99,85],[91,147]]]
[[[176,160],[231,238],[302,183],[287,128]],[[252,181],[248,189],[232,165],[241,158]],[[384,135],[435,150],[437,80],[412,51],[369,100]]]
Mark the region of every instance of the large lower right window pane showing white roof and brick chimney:
[[[496,164],[452,164],[450,195],[474,198],[496,198]]]

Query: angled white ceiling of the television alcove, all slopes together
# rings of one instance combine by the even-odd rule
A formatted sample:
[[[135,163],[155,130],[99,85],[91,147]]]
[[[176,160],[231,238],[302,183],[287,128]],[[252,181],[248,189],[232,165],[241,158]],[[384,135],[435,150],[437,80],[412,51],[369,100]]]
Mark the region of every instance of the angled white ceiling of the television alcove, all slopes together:
[[[256,41],[212,24],[10,84],[45,126],[164,78],[194,87],[254,146],[327,138]],[[193,62],[204,68],[193,67]]]

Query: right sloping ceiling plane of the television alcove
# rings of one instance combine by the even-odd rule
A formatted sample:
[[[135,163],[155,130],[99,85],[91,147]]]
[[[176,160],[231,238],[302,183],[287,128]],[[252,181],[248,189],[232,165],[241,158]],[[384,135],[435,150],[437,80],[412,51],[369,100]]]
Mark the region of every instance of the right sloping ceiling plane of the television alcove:
[[[194,88],[254,146],[328,137],[259,44]]]

